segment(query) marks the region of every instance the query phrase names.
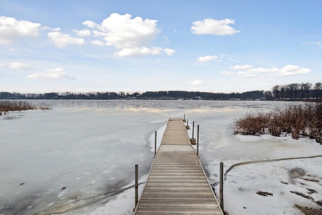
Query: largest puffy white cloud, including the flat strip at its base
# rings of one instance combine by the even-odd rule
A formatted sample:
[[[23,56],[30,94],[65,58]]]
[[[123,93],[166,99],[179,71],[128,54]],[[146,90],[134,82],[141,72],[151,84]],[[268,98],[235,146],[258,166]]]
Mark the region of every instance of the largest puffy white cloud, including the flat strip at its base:
[[[104,41],[105,45],[121,49],[114,53],[116,56],[144,56],[162,52],[172,55],[175,52],[175,50],[169,48],[148,47],[160,33],[156,26],[156,20],[143,20],[141,17],[132,19],[130,14],[114,13],[103,20],[101,24],[85,21],[83,25],[93,28],[93,37],[99,38],[92,40],[92,44],[103,45]],[[168,37],[164,36],[163,39],[163,43],[169,42]]]

